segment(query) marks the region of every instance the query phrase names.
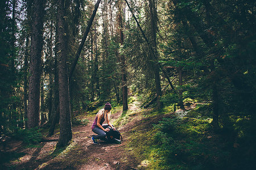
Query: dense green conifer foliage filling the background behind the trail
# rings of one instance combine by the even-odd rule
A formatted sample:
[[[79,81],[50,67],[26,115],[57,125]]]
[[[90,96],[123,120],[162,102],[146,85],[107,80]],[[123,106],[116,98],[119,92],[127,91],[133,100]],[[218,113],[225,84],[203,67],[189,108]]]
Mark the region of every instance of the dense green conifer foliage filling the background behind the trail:
[[[46,122],[53,131],[60,117],[59,2],[44,3],[42,67],[38,68],[42,70],[40,123]],[[67,2],[68,73],[95,3]],[[32,5],[32,0],[1,1],[0,5],[1,136],[24,134],[27,142],[33,142],[31,134],[37,136],[22,130],[29,127]],[[240,168],[238,164],[251,161],[246,157],[255,158],[255,37],[254,1],[104,0],[69,77],[71,115],[92,111],[106,101],[121,104],[127,96],[125,87],[144,108],[174,112],[196,103],[194,121],[178,126],[179,120],[166,119],[152,129],[154,139],[144,143],[154,151],[145,153],[148,158],[158,155],[159,163],[152,168],[157,169],[160,162],[163,169],[184,163],[184,168],[217,169],[235,162],[232,168]],[[202,137],[204,131],[222,140],[208,142],[207,136]],[[214,150],[216,143],[222,148]]]

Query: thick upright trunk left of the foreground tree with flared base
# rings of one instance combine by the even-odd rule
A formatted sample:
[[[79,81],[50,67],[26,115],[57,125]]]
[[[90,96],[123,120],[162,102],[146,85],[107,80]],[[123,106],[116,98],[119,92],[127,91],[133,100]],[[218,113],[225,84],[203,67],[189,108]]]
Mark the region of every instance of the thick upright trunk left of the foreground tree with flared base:
[[[30,82],[28,87],[28,128],[39,125],[40,74],[43,48],[44,3],[42,0],[35,0],[32,4],[34,7],[32,7]]]

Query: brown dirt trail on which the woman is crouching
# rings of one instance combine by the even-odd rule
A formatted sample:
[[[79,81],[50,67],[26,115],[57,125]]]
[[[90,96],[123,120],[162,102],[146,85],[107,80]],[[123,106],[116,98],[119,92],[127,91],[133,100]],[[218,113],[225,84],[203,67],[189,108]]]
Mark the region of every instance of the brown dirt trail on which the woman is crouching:
[[[129,109],[138,109],[136,101],[129,105]],[[110,122],[114,122],[122,111],[112,114]],[[25,148],[21,142],[14,141],[9,152],[15,151],[23,156],[18,160],[5,164],[9,169],[134,169],[136,161],[125,151],[127,131],[133,122],[120,127],[123,142],[121,145],[99,142],[93,144],[91,136],[94,134],[91,125],[94,116],[84,117],[89,120],[85,125],[73,127],[73,142],[65,150],[56,152],[55,142],[42,142],[34,148]],[[52,138],[58,138],[59,134]]]

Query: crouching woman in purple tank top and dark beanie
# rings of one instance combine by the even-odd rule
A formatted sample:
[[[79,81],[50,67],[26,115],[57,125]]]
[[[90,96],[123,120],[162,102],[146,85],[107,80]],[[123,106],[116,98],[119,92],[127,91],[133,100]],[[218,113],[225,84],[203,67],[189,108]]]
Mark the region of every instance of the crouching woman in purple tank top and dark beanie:
[[[92,131],[98,135],[93,135],[92,141],[94,144],[97,144],[97,140],[101,139],[102,141],[106,141],[106,131],[109,131],[110,129],[107,128],[110,126],[113,130],[115,130],[115,127],[110,124],[109,118],[110,118],[110,110],[112,109],[110,103],[106,103],[104,109],[101,109],[97,114],[96,118],[92,124]],[[103,124],[103,122],[106,120],[107,124]]]

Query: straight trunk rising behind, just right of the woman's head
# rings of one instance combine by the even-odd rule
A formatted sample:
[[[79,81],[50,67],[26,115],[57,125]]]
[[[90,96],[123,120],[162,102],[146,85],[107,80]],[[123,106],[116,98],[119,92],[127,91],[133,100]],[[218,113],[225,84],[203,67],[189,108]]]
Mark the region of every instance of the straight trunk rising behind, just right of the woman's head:
[[[118,1],[118,22],[119,22],[119,42],[122,45],[124,36],[123,36],[123,14],[122,14],[122,1]],[[121,58],[121,74],[122,74],[122,100],[123,100],[123,111],[127,111],[128,109],[128,90],[127,90],[127,69],[126,69],[126,59],[123,54],[120,56]]]

